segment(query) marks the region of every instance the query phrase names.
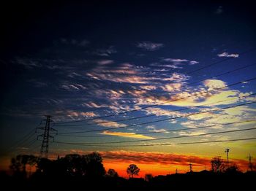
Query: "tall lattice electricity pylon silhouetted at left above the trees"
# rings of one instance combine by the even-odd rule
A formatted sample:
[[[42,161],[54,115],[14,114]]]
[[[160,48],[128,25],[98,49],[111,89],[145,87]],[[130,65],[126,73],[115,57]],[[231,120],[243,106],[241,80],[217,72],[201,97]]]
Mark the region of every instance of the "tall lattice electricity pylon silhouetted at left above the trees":
[[[53,120],[50,119],[51,116],[50,115],[45,115],[45,117],[46,117],[46,119],[45,119],[45,127],[37,128],[37,129],[44,130],[44,133],[42,133],[41,135],[37,136],[37,139],[40,136],[42,137],[42,145],[41,145],[41,149],[40,149],[41,157],[48,158],[49,138],[53,139],[53,141],[54,141],[54,137],[50,135],[50,131],[56,131],[56,134],[57,134],[57,130],[55,130],[53,128],[50,128],[50,122],[53,122]]]

